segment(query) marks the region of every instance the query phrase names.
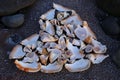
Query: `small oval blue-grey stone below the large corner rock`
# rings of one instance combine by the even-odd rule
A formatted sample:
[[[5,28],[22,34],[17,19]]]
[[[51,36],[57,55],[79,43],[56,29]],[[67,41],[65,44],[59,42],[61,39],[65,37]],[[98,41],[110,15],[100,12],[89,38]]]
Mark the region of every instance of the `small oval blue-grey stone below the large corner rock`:
[[[7,27],[16,28],[21,26],[24,23],[24,15],[16,14],[12,16],[5,16],[5,17],[2,17],[1,21]]]

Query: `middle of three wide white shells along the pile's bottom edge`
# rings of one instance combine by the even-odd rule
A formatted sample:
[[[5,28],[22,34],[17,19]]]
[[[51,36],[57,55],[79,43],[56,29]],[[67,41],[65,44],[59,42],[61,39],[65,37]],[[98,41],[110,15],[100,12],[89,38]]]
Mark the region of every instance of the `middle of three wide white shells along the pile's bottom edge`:
[[[62,70],[63,64],[59,64],[57,61],[49,63],[47,66],[41,66],[41,72],[44,73],[56,73]]]

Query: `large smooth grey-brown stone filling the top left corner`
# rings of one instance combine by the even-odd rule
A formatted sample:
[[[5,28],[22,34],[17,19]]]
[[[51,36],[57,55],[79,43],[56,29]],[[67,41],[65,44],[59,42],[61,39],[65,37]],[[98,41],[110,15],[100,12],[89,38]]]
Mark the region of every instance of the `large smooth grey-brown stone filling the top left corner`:
[[[32,5],[36,0],[0,0],[0,16],[17,12]]]

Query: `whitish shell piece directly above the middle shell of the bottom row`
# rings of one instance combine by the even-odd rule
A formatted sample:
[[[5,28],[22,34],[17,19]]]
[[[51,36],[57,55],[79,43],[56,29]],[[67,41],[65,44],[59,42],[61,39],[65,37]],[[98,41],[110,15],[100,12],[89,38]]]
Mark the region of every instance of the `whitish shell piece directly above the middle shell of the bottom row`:
[[[59,49],[53,49],[49,55],[50,63],[53,63],[61,54],[62,52]]]

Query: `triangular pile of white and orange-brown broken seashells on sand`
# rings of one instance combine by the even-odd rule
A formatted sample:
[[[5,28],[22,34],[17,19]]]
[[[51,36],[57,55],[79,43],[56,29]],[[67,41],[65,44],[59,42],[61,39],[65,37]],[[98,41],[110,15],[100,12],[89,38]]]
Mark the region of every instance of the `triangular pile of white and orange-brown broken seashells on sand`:
[[[74,10],[55,3],[53,8],[40,17],[39,34],[24,39],[10,53],[17,68],[56,73],[65,66],[69,72],[81,72],[109,56]]]

